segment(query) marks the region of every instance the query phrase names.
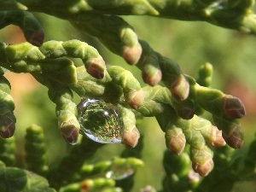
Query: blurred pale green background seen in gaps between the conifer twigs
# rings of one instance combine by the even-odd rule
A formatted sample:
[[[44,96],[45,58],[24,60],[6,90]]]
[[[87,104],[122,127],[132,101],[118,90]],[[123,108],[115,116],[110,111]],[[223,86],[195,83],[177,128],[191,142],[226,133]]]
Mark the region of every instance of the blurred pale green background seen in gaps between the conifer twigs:
[[[82,36],[65,20],[48,15],[38,14],[37,16],[44,26],[45,41],[52,39],[65,41],[73,38],[82,40],[96,47],[108,65],[120,65],[131,70],[143,84],[137,67],[128,66],[122,58],[113,55],[95,38]],[[147,16],[126,16],[124,19],[135,28],[139,38],[148,41],[160,54],[177,61],[184,73],[196,78],[202,64],[207,61],[212,63],[214,67],[212,87],[238,96],[247,108],[247,117],[241,119],[241,125],[245,131],[245,144],[237,151],[238,154],[245,153],[256,131],[254,118],[256,114],[256,37],[204,22],[185,22]],[[8,26],[0,31],[0,41],[19,43],[25,40],[19,28]],[[68,146],[57,130],[55,105],[49,101],[47,89],[35,82],[30,74],[6,73],[6,77],[12,84],[12,95],[16,103],[15,137],[19,146],[17,157],[20,158],[20,165],[24,155],[26,127],[35,123],[44,127],[49,165],[55,166],[67,153]],[[78,98],[76,102],[79,102]],[[138,128],[144,135],[145,166],[136,174],[134,191],[148,184],[161,189],[165,174],[161,163],[166,148],[164,133],[160,131],[154,118],[144,118]],[[109,160],[119,155],[124,148],[122,144],[108,144],[101,148],[91,161]],[[256,190],[254,182],[238,183],[235,191],[241,191],[241,186],[243,190],[246,187],[247,192]]]

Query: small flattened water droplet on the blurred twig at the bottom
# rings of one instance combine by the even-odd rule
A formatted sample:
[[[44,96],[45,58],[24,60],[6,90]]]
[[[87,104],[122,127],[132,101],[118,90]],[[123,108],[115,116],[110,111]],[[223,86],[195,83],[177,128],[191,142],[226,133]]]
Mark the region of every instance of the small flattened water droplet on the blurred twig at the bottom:
[[[131,165],[113,165],[109,167],[109,171],[106,172],[106,177],[114,180],[121,180],[131,176],[133,173],[134,169],[131,167]]]

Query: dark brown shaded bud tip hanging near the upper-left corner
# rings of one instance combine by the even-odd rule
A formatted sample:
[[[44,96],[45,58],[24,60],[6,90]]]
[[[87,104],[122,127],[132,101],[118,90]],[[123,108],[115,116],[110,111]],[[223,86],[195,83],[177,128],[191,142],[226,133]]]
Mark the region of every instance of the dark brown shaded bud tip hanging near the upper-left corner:
[[[44,43],[44,29],[40,28],[38,31],[26,31],[26,40],[35,46],[41,46]]]

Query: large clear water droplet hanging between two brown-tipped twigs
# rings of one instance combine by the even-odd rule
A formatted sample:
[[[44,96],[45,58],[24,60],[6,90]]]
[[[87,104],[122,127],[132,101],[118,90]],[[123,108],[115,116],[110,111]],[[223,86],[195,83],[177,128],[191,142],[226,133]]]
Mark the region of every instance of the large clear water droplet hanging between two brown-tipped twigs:
[[[78,105],[81,133],[97,143],[121,143],[124,127],[117,107],[97,99]]]

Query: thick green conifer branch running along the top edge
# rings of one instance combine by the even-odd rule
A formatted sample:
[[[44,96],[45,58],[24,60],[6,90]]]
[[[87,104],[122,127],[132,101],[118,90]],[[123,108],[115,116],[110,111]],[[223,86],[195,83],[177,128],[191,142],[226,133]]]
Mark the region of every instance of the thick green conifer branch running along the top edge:
[[[63,19],[83,15],[90,11],[100,15],[152,15],[176,20],[203,20],[213,25],[255,34],[255,16],[251,7],[253,0],[186,1],[178,0],[132,0],[75,2],[20,0],[30,11],[44,12]],[[13,3],[12,3],[13,4]],[[57,11],[54,8],[59,8]],[[61,9],[60,9],[61,8]],[[236,13],[236,14],[235,14]]]

